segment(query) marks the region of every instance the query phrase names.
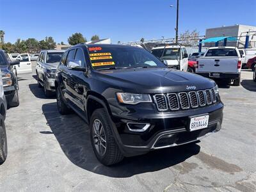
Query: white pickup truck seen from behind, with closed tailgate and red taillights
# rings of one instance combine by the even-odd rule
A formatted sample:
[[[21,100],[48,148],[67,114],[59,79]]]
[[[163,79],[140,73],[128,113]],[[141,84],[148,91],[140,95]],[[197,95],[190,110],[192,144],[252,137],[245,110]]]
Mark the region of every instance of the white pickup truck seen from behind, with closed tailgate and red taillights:
[[[196,61],[196,74],[211,79],[234,81],[239,86],[241,56],[236,47],[210,47],[204,56]]]

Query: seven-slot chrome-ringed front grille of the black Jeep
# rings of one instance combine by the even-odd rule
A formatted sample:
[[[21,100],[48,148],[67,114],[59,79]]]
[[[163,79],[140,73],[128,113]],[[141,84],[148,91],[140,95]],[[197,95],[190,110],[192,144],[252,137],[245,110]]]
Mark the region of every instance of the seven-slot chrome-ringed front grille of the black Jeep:
[[[157,94],[153,97],[159,111],[198,108],[214,104],[217,101],[213,89],[188,93]]]

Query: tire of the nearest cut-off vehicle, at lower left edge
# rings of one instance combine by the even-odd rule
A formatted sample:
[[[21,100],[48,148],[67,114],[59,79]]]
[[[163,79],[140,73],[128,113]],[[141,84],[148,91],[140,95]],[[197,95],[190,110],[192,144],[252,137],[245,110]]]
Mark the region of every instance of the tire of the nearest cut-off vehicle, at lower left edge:
[[[3,164],[7,157],[7,138],[4,126],[4,117],[0,115],[0,164]]]

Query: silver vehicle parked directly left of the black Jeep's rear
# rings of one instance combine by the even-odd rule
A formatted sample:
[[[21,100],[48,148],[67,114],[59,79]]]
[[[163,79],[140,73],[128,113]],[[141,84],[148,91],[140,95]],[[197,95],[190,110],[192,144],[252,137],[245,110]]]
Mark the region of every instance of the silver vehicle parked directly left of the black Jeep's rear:
[[[36,77],[39,87],[44,87],[46,97],[55,92],[55,72],[64,51],[41,51],[36,62]]]

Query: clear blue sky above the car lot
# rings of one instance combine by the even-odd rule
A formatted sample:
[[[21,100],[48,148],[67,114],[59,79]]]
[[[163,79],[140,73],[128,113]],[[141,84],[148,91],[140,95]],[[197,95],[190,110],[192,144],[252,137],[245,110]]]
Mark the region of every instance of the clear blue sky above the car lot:
[[[112,43],[173,38],[177,0],[0,0],[5,42],[52,36],[67,44],[80,32]],[[180,0],[179,33],[234,24],[256,26],[256,0]],[[173,5],[173,7],[170,7]]]

